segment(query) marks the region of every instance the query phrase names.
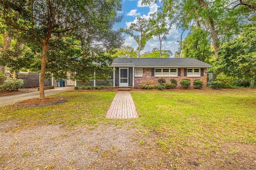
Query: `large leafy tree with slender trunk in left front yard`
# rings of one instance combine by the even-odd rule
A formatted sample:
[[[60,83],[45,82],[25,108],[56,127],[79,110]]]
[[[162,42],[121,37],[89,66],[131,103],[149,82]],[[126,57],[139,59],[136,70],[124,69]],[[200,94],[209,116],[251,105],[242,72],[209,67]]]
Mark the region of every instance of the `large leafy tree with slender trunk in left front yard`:
[[[122,19],[116,17],[120,0],[1,0],[0,7],[4,24],[10,31],[20,31],[18,39],[35,52],[34,66],[40,70],[40,99],[45,98],[46,73],[62,78],[67,69],[80,68],[83,75],[88,69],[92,72],[106,67],[112,57],[104,51],[123,43],[121,34],[112,30]],[[82,76],[76,78],[85,81]]]

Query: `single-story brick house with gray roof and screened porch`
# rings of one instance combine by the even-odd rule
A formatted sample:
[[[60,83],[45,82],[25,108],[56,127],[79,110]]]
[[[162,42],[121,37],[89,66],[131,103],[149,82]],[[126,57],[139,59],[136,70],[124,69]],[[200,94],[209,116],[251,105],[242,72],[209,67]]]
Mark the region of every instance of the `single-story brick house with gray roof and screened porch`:
[[[159,78],[186,78],[191,82],[202,80],[207,85],[207,68],[212,65],[193,58],[116,58],[110,67],[114,72],[109,80],[91,80],[88,83],[75,82],[75,86],[114,86],[139,88],[145,81],[156,82]]]

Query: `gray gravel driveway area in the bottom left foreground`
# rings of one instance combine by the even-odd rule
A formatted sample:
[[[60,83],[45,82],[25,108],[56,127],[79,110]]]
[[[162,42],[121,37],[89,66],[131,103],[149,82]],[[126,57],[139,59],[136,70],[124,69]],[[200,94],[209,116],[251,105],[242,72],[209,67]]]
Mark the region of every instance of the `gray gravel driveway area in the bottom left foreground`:
[[[141,148],[133,129],[117,126],[68,130],[42,125],[15,130],[18,126],[15,121],[0,122],[0,169],[120,169],[121,162],[128,169]]]

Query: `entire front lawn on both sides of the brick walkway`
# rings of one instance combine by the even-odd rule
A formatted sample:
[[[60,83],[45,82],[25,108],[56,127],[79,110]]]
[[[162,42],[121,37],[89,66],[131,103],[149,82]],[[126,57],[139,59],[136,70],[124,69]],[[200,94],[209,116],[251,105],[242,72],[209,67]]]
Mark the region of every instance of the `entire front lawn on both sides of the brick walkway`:
[[[44,124],[69,129],[93,129],[100,124],[132,128],[137,133],[130,138],[142,146],[138,164],[145,167],[254,167],[256,90],[132,91],[139,118],[117,120],[105,118],[115,94],[66,92],[51,96],[66,99],[63,104],[4,106],[0,107],[0,122],[16,121],[22,125],[18,129]],[[151,156],[159,161],[148,162]]]

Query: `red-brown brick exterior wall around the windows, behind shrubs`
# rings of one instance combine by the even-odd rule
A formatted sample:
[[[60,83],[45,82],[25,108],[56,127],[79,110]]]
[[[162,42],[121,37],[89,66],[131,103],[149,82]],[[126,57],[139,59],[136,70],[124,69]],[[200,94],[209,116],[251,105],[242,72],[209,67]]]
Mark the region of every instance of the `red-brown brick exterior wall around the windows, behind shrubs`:
[[[198,77],[188,77],[184,76],[184,68],[180,68],[180,76],[175,77],[152,77],[152,68],[143,68],[143,76],[142,77],[134,77],[134,87],[140,88],[142,84],[145,84],[146,81],[150,80],[152,84],[158,85],[159,83],[157,80],[159,78],[164,78],[166,82],[170,82],[172,78],[176,79],[178,82],[178,87],[180,86],[180,81],[184,78],[189,79],[191,81],[191,85],[193,84],[194,80],[201,80],[204,82],[204,87],[207,87],[207,68],[204,68],[204,76]]]

